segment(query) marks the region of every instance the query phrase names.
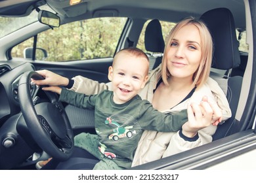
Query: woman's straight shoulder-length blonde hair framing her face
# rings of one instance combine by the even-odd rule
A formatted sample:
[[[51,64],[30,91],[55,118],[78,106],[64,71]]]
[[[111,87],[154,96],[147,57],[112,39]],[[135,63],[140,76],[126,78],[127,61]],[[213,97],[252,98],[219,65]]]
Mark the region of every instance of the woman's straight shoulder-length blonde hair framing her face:
[[[197,88],[200,88],[203,84],[205,84],[207,78],[209,77],[210,69],[211,69],[211,60],[213,57],[213,41],[211,38],[211,33],[209,32],[207,26],[200,20],[196,20],[195,18],[189,17],[181,20],[178,24],[173,27],[169,36],[167,37],[167,43],[165,45],[164,55],[161,64],[161,77],[163,79],[164,84],[168,85],[167,78],[171,76],[167,69],[167,58],[166,58],[166,50],[167,47],[170,46],[173,37],[175,34],[184,27],[185,25],[195,25],[198,27],[200,38],[201,38],[201,49],[202,49],[202,58],[200,61],[200,65],[196,72],[193,75],[193,85]]]

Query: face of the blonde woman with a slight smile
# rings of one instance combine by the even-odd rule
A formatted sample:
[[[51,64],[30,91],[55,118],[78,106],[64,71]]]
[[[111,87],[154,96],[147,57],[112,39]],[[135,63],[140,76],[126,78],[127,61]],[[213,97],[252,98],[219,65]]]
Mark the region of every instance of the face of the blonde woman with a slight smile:
[[[177,31],[166,50],[167,69],[172,77],[190,78],[202,57],[200,32],[196,25],[185,25]]]

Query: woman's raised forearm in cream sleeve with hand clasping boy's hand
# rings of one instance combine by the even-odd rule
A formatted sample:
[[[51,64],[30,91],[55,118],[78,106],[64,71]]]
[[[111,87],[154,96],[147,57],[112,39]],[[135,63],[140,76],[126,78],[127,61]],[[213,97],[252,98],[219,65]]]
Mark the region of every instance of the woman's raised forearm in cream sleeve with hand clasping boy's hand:
[[[211,142],[221,116],[217,103],[203,99],[200,105],[188,105],[188,122],[182,125],[181,131],[173,134],[162,158]]]

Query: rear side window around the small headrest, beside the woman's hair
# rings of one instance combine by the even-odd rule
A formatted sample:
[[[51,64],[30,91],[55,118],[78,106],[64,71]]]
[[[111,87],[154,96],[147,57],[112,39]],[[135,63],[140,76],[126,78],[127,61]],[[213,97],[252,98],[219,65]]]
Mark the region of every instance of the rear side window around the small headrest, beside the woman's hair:
[[[154,54],[154,53],[149,53],[146,48],[145,48],[145,44],[144,44],[144,36],[145,36],[145,30],[146,30],[146,26],[148,25],[148,23],[151,20],[148,20],[145,24],[144,27],[142,28],[142,31],[140,33],[140,37],[139,37],[139,41],[137,43],[137,48],[140,48],[141,50],[143,50],[145,53],[148,54]],[[175,26],[175,23],[173,22],[164,22],[164,21],[160,21],[161,24],[161,29],[162,29],[162,33],[163,33],[163,39],[166,41],[167,36],[169,35],[169,32],[171,31],[171,29],[173,29],[173,27]]]

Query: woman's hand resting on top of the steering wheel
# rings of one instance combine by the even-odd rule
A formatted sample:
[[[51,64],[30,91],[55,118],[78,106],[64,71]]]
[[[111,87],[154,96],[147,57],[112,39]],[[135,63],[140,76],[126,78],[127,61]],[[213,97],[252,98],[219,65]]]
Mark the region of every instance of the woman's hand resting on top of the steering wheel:
[[[36,85],[49,85],[49,86],[67,86],[68,85],[68,78],[65,78],[64,76],[57,75],[51,71],[48,70],[41,70],[36,71],[39,73],[39,75],[43,76],[44,80],[33,80],[33,84]]]

